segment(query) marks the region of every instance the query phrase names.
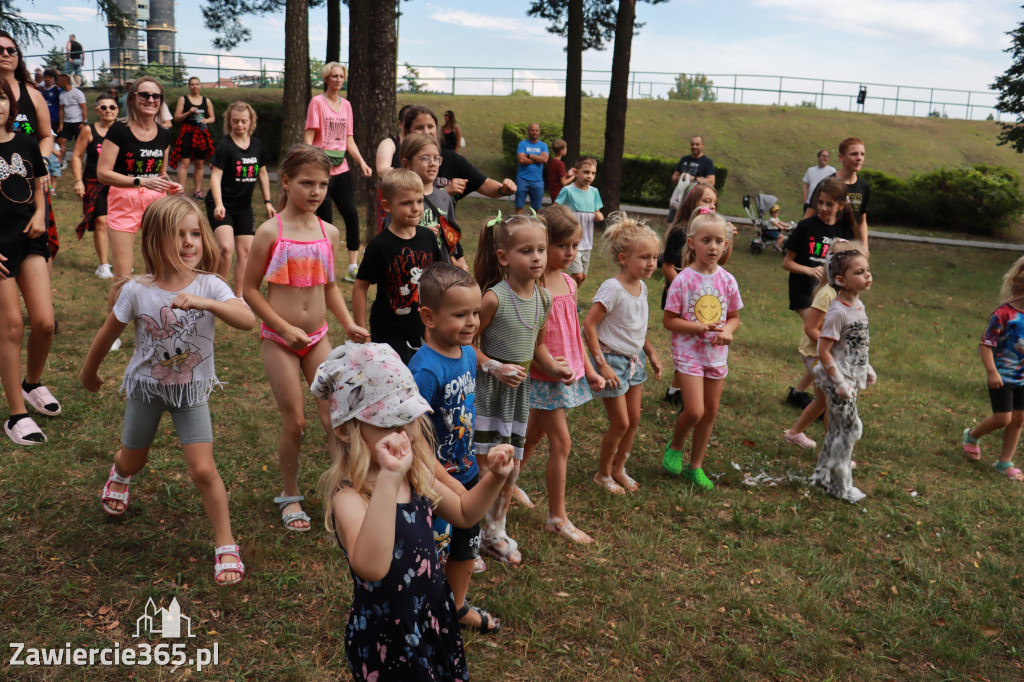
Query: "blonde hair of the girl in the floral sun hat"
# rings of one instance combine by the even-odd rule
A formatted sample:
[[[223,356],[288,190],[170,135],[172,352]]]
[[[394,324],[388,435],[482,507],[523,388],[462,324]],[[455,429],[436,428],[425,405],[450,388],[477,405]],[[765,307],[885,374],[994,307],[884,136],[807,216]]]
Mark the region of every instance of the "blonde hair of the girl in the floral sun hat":
[[[436,507],[440,496],[434,491],[434,447],[435,438],[430,419],[426,416],[416,419],[420,437],[413,439],[413,465],[407,474],[413,495],[426,498],[431,507]],[[319,477],[321,496],[324,498],[324,525],[329,532],[335,532],[332,503],[334,495],[342,484],[350,485],[368,502],[374,494],[372,481],[367,480],[374,454],[362,437],[362,423],[350,419],[334,429],[329,438],[338,439],[340,455],[330,468]]]

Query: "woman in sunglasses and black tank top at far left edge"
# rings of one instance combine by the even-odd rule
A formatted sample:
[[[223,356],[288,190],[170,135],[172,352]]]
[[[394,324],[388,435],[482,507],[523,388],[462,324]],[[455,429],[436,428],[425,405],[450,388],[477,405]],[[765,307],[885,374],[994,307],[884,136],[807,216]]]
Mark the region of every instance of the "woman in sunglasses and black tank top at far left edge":
[[[39,144],[39,153],[43,159],[49,159],[53,154],[53,129],[50,127],[50,110],[25,66],[25,56],[14,38],[6,31],[0,31],[0,78],[7,81],[11,91],[17,98],[17,118],[14,120],[14,132],[35,138]],[[43,194],[45,197],[46,236],[50,258],[57,255],[57,225],[53,219],[53,206],[50,203],[50,177],[47,168],[40,169],[43,174]]]

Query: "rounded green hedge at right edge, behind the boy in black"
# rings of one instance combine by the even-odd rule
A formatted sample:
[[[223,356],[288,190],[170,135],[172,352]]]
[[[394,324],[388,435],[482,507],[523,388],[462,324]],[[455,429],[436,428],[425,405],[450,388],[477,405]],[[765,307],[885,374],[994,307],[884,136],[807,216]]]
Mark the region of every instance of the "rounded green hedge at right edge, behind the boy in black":
[[[992,236],[1024,212],[1021,176],[1004,166],[938,168],[908,180],[880,171],[860,176],[870,185],[871,222]]]

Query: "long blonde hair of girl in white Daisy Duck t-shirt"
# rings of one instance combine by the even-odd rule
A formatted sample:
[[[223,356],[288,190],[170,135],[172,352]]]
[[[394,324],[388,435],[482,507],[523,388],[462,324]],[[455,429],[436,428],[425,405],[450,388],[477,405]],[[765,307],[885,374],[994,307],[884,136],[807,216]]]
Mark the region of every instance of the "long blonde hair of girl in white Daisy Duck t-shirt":
[[[178,227],[188,216],[199,221],[202,256],[199,265],[188,267],[178,253]],[[142,214],[142,259],[148,281],[159,282],[171,272],[214,272],[220,261],[217,243],[206,219],[206,211],[184,197],[163,197],[146,207]]]

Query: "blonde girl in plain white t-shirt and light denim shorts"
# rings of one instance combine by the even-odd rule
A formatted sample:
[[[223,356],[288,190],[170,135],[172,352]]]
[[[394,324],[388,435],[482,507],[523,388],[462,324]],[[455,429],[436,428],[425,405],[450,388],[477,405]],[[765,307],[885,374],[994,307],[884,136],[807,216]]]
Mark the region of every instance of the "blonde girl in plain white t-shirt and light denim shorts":
[[[626,473],[626,461],[640,426],[640,398],[647,381],[644,354],[662,378],[662,360],[647,340],[646,280],[657,267],[657,235],[625,213],[608,216],[604,228],[611,260],[618,274],[605,280],[594,295],[594,305],[584,319],[584,338],[594,367],[604,378],[604,390],[595,393],[604,400],[608,430],[601,438],[601,456],[594,482],[616,495],[635,492],[640,485]],[[641,351],[643,354],[641,354]]]

